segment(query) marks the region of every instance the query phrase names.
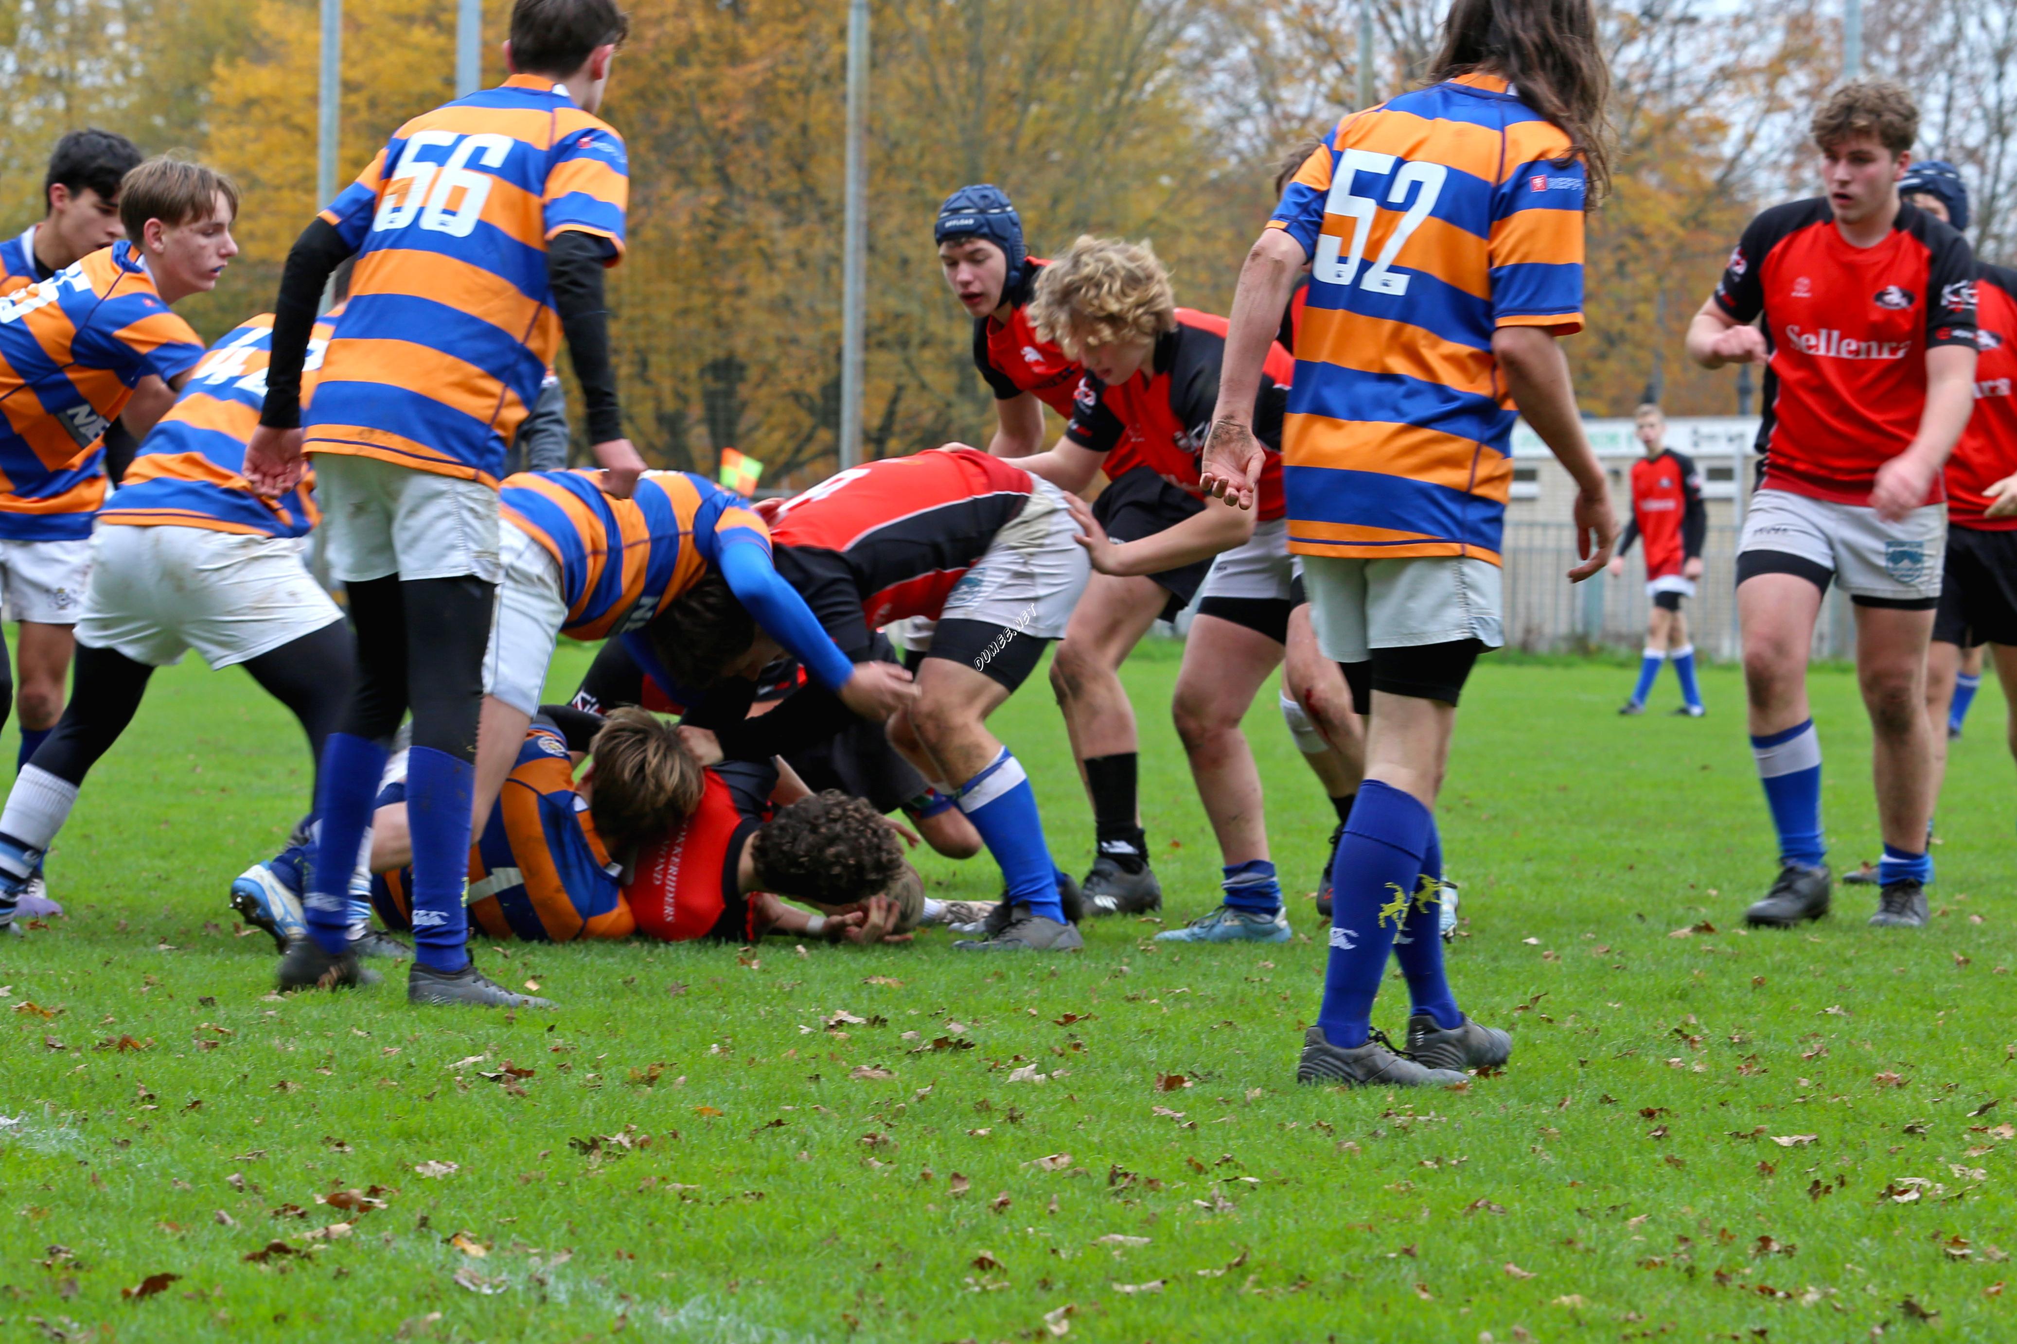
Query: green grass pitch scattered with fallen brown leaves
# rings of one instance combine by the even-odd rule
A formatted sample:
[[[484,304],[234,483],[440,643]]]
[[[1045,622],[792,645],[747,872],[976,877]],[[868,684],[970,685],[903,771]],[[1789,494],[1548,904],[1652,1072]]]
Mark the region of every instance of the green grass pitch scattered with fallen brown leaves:
[[[1172,923],[1216,895],[1162,711],[1174,675],[1170,647],[1128,667]],[[1089,927],[1061,961],[970,961],[944,933],[773,941],[748,965],[480,947],[561,1001],[516,1018],[420,1014],[395,981],[278,1001],[224,889],[299,814],[305,754],[244,675],[167,671],[50,862],[71,917],[0,943],[0,1336],[1013,1340],[1051,1338],[1053,1314],[1130,1342],[1779,1342],[1910,1336],[1922,1308],[1950,1338],[2009,1338],[2001,699],[1985,687],[1954,750],[1932,929],[1866,929],[1842,893],[1813,931],[1745,935],[1771,838],[1737,675],[1706,669],[1704,721],[1618,719],[1628,681],[1476,673],[1442,808],[1468,917],[1450,959],[1466,1007],[1513,1028],[1513,1068],[1392,1094],[1293,1084],[1321,939],[1158,951],[1142,923]],[[1874,854],[1854,681],[1813,691],[1837,862]],[[1309,933],[1331,816],[1259,705]],[[998,725],[1083,864],[1041,681]],[[942,893],[996,883],[986,860],[926,870]],[[867,1022],[829,1032],[839,1010]],[[1382,1026],[1404,1012],[1396,981]],[[506,1062],[532,1072],[484,1076]],[[1186,1086],[1160,1090],[1170,1074]],[[363,1217],[317,1203],[371,1185],[387,1207]],[[151,1273],[182,1278],[123,1298]]]

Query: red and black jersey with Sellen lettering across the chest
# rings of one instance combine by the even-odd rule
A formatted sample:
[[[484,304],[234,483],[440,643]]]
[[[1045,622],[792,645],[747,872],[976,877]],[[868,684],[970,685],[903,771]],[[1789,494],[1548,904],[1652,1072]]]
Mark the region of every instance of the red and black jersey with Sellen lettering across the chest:
[[[1918,433],[1926,351],[1975,345],[1975,264],[1961,234],[1902,206],[1854,248],[1827,199],[1775,206],[1745,230],[1716,304],[1765,316],[1765,488],[1866,504],[1878,467]],[[1928,504],[1940,500],[1934,482]]]

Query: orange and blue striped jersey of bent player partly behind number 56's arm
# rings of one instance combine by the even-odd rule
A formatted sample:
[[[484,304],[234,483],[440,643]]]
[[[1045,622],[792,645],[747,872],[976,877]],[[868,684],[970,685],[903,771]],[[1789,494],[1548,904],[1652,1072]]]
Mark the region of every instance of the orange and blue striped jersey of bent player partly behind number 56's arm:
[[[341,308],[315,324],[303,363],[301,397],[315,389],[315,371]],[[256,536],[307,536],[317,524],[315,474],[278,500],[262,500],[244,478],[246,441],[266,405],[266,361],[272,359],[272,314],[234,326],[204,355],[175,405],[147,433],[125,482],[105,500],[99,522],[135,528],[206,528]]]

